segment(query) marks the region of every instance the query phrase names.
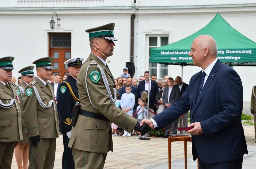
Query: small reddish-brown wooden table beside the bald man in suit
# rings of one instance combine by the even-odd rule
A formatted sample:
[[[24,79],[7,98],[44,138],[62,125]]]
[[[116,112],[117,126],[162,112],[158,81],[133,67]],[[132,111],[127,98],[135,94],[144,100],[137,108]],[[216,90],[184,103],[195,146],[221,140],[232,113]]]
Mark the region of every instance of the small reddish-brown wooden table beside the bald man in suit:
[[[171,169],[171,154],[172,154],[172,142],[184,141],[184,161],[185,169],[187,169],[187,142],[191,142],[192,138],[190,134],[175,134],[168,137],[168,161],[169,169]],[[198,158],[197,158],[197,169],[199,169]]]

